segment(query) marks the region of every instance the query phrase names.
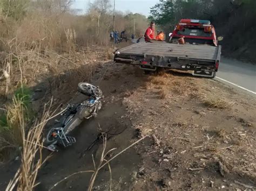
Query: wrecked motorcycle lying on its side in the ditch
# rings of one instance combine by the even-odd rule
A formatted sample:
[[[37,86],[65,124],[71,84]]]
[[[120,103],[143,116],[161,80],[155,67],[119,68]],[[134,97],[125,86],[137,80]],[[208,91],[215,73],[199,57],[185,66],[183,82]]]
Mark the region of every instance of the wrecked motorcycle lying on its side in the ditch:
[[[46,135],[45,144],[50,151],[58,151],[58,146],[67,147],[76,143],[76,138],[68,134],[82,123],[83,119],[96,117],[102,108],[103,94],[99,87],[81,82],[78,84],[78,91],[89,98],[82,103],[68,104],[60,114],[57,124]]]

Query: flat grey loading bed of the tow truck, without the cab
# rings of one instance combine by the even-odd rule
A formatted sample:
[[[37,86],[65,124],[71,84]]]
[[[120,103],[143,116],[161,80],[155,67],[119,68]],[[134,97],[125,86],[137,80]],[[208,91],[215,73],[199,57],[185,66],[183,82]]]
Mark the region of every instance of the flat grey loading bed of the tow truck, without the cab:
[[[220,62],[221,46],[173,44],[164,41],[137,43],[118,49],[114,61],[139,65],[141,69],[157,68],[192,70],[193,75],[215,77]]]

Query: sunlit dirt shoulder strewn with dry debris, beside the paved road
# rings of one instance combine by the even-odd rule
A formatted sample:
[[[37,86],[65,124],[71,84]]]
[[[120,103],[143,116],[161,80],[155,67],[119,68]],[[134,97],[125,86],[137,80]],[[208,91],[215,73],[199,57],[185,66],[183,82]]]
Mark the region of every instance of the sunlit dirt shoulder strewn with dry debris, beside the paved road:
[[[137,147],[144,160],[134,190],[255,189],[255,98],[162,74],[125,103],[140,135],[157,138]]]

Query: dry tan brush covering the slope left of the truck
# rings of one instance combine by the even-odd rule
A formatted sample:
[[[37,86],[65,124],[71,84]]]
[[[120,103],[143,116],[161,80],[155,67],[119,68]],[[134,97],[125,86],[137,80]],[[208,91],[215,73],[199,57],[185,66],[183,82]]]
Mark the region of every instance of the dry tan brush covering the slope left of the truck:
[[[69,91],[71,84],[76,86],[79,81],[90,80],[97,60],[112,56],[110,1],[90,3],[82,16],[74,14],[72,3],[71,0],[0,1],[1,160],[22,146],[19,112],[28,122],[23,126],[31,126],[30,122],[42,114],[43,108],[40,112],[31,108],[38,84],[47,82],[50,87],[45,94],[56,96],[59,89]],[[147,19],[138,13],[117,12],[115,30],[126,29],[127,34],[132,34],[134,20],[139,35],[147,26]],[[17,108],[17,103],[22,108]]]

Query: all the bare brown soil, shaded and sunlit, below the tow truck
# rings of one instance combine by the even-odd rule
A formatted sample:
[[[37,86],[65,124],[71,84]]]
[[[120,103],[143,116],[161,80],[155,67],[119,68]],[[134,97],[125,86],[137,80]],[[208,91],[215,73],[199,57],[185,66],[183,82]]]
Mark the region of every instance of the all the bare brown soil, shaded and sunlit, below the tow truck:
[[[112,190],[256,189],[254,97],[213,80],[173,71],[145,75],[111,61],[99,65],[92,83],[104,92],[103,110],[73,132],[76,144],[53,153],[36,190],[92,170],[92,155],[97,163],[102,143],[87,148],[99,132],[108,135],[107,150],[117,148],[108,159],[148,137],[111,161],[111,176],[107,166],[99,172],[96,190],[109,190],[111,177]],[[83,99],[77,94],[71,102]],[[1,190],[18,164],[0,169]],[[52,190],[86,190],[90,178],[79,173]]]

